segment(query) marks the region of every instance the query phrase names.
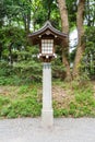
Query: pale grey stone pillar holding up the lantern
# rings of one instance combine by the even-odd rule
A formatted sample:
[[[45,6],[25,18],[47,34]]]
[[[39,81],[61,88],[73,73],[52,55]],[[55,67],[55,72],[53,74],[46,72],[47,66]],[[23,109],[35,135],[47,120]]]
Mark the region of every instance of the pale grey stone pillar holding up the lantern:
[[[43,66],[43,109],[41,109],[43,127],[51,127],[54,125],[54,110],[51,98],[51,63],[44,62]]]

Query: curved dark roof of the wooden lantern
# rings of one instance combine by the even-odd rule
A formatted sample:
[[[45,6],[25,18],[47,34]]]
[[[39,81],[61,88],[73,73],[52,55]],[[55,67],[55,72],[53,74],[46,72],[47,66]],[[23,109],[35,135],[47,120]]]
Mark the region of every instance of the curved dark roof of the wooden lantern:
[[[68,34],[62,33],[56,29],[49,21],[45,23],[45,25],[39,28],[37,32],[34,32],[28,35],[33,45],[37,45],[40,42],[40,38],[49,38],[54,37],[57,45],[60,45],[63,38],[68,37]]]

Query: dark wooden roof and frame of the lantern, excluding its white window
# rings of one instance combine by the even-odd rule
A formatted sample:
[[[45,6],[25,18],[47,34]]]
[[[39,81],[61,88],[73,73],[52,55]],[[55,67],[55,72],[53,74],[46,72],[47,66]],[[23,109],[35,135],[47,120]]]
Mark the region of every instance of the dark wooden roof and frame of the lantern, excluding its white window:
[[[49,21],[47,21],[40,29],[28,35],[28,38],[33,45],[39,45],[39,58],[46,62],[51,61],[51,59],[55,58],[55,46],[61,45],[63,39],[67,37],[67,34],[56,29]],[[41,39],[54,39],[52,54],[41,54]]]

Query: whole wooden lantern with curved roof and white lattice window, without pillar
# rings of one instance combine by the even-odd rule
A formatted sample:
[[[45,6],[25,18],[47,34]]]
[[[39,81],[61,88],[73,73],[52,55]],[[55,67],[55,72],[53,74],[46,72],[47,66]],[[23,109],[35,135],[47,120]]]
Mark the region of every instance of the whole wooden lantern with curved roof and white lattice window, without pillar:
[[[67,34],[56,29],[49,21],[40,29],[28,35],[33,45],[39,45],[38,57],[44,62],[50,62],[56,57],[55,46],[61,45],[67,36]]]

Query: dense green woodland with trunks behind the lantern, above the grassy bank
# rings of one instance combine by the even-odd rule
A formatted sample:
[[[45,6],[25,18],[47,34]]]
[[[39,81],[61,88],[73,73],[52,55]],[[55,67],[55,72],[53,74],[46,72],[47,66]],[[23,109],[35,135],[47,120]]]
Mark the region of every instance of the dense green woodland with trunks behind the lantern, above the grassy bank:
[[[68,35],[73,29],[78,31],[78,42],[73,42],[73,47],[69,38],[57,47],[52,76],[61,80],[84,74],[95,78],[94,0],[1,0],[0,81],[5,73],[7,76],[14,73],[28,81],[41,76],[40,62],[36,57],[38,47],[28,44],[27,35],[40,28],[47,20]]]

